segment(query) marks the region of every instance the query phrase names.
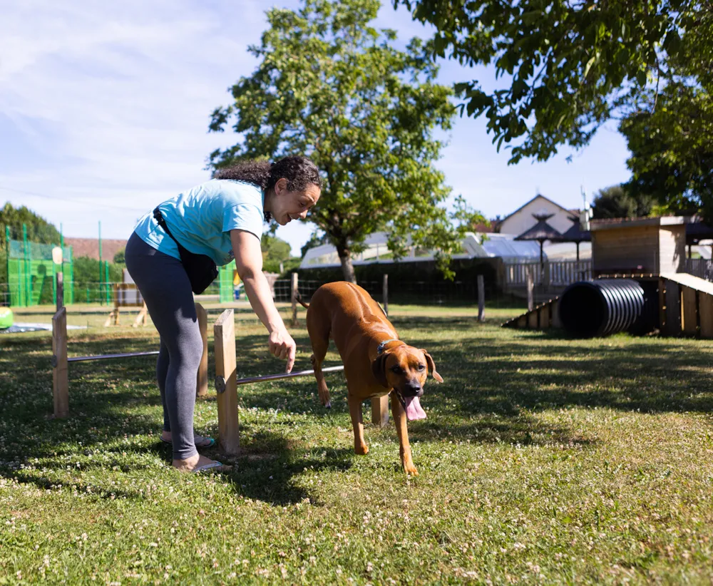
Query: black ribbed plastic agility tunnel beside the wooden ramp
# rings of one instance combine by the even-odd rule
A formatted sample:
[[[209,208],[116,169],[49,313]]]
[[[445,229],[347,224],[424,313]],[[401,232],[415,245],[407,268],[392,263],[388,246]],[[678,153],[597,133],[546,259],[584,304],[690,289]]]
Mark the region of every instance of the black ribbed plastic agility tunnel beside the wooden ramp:
[[[644,334],[656,327],[655,289],[633,279],[600,279],[571,284],[560,297],[560,322],[580,338],[618,331]]]

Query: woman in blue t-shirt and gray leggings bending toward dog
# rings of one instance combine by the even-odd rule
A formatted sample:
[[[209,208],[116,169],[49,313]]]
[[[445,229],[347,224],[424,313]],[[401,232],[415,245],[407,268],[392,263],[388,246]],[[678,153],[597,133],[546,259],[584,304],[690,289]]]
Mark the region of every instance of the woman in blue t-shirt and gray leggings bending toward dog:
[[[173,443],[173,466],[178,470],[221,466],[197,450],[215,442],[193,434],[195,378],[203,348],[193,303],[192,288],[201,289],[196,280],[205,277],[203,268],[214,268],[213,262],[235,259],[247,298],[267,328],[270,353],[287,359],[291,371],[294,340],[262,274],[262,223],[274,218],[284,226],[304,218],[320,193],[319,171],[308,158],[242,162],[160,204],[139,220],[129,238],[126,268],[160,334],[156,371],[163,401],[161,438]],[[203,273],[199,277],[197,269]]]

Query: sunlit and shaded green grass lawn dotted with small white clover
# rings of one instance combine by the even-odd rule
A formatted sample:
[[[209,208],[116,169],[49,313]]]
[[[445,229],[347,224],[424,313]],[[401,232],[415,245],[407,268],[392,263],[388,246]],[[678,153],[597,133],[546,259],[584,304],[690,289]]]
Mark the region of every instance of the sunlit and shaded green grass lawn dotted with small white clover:
[[[236,307],[238,376],[280,371]],[[153,327],[104,329],[78,309],[68,322],[89,329],[69,332],[70,356],[157,347]],[[50,336],[0,336],[0,584],[713,580],[711,342],[390,309],[445,379],[409,424],[416,478],[393,425],[368,426],[371,451],[354,455],[341,374],[327,375],[331,410],[309,377],[241,387],[234,471],[180,475],[158,441],[152,358],[70,364],[71,417],[53,421]],[[49,321],[33,311],[16,321]],[[293,335],[309,368],[307,331]],[[195,419],[217,433],[213,398]]]

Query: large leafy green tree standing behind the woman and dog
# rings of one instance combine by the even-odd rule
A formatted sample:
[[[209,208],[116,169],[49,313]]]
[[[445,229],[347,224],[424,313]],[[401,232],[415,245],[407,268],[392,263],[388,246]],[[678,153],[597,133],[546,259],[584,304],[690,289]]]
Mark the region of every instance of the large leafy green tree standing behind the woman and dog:
[[[437,68],[418,39],[399,51],[394,31],[370,25],[379,6],[304,0],[297,11],[268,11],[270,26],[250,47],[257,69],[212,113],[210,130],[230,126],[241,140],[210,164],[307,155],[324,177],[308,220],[337,247],[345,279],[354,281],[352,254],[379,230],[396,257],[412,245],[437,250],[448,274],[470,213],[460,199],[446,211],[450,190],[434,167],[442,147],[434,131],[451,128],[453,92],[434,83]]]

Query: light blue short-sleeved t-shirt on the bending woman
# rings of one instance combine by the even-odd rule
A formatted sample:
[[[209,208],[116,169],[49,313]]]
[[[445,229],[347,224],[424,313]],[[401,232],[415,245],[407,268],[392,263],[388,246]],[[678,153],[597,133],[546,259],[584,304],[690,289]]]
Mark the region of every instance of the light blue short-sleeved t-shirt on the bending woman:
[[[181,193],[158,206],[168,230],[183,247],[207,255],[215,264],[228,264],[233,258],[230,230],[246,230],[262,236],[264,197],[252,183],[212,179]],[[178,245],[166,235],[153,217],[143,216],[134,232],[149,246],[180,259]]]

